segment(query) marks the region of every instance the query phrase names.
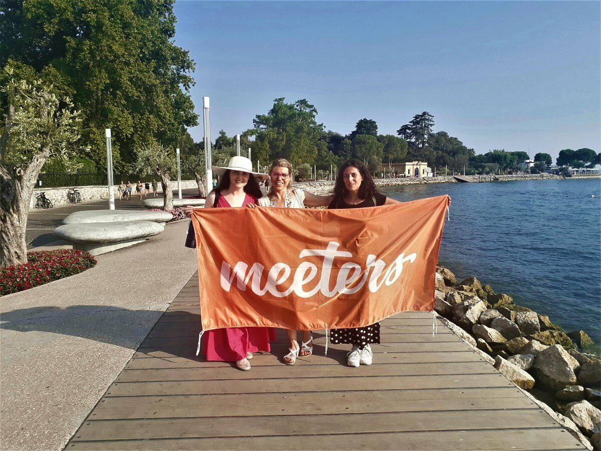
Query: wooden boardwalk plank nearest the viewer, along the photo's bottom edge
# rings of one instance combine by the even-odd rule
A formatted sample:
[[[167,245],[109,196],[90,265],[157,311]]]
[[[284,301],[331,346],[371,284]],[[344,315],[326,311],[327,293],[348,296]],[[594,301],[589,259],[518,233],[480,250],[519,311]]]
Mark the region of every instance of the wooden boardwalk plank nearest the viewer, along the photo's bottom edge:
[[[382,434],[287,435],[272,437],[187,438],[167,440],[75,441],[74,451],[197,451],[214,450],[582,450],[572,435],[556,428],[483,429],[464,431],[412,431]]]

